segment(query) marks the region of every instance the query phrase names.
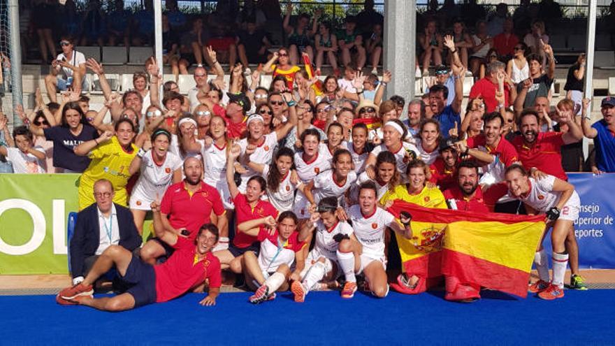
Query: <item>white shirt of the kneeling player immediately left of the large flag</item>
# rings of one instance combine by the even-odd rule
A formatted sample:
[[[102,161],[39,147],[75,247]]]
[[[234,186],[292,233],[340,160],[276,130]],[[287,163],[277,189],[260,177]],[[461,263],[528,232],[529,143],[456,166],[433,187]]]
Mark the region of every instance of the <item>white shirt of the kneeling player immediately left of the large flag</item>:
[[[372,259],[384,257],[384,230],[395,217],[384,209],[376,208],[372,215],[363,216],[359,205],[349,209],[348,217],[352,222],[354,235],[363,245],[363,254]]]

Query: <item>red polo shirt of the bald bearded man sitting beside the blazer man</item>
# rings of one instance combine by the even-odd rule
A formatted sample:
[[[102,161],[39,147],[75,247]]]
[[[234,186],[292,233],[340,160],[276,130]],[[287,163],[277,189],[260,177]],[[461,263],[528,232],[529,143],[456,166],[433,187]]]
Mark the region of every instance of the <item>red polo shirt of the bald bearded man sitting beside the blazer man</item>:
[[[201,188],[190,195],[185,182],[178,182],[166,189],[160,203],[160,211],[168,215],[168,222],[174,229],[187,229],[188,238],[194,240],[198,229],[211,222],[212,210],[223,215],[225,210],[217,190],[201,182]]]

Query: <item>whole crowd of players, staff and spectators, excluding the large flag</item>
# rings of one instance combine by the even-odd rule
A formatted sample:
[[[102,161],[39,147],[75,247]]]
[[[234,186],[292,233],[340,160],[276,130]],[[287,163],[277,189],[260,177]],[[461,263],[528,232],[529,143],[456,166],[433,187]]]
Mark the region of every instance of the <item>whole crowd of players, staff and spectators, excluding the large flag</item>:
[[[116,1],[118,20],[110,22],[96,2],[80,18],[87,25],[80,38],[77,31],[61,35],[61,53],[45,77],[50,102],[38,90],[34,110],[16,108],[24,126],[12,134],[0,117],[0,154],[15,173],[81,174],[69,246],[74,285],[58,303],[126,310],[205,287],[201,303],[212,305],[221,271],[254,291],[252,303],[287,289],[300,302],[326,288],[339,288],[342,298],[357,289],[384,297],[391,248],[418,232],[412,215],[396,219],[387,211],[395,200],[542,213],[545,231],[553,229],[554,271],[550,277],[541,246],[540,280],[528,290],[547,300],[563,297],[567,264],[570,287],[586,289],[574,236],[580,201],[566,172],[615,172],[615,98],[602,99],[602,119],[591,124],[581,55],[570,67],[565,99],[552,101],[556,60],[545,33],[554,20],[551,1],[538,10],[522,1],[513,16],[500,3],[490,17],[479,6],[432,4],[417,36],[428,91],[411,100],[385,97],[396,73],[379,73],[383,23],[372,1],[347,16],[340,31],[319,22],[319,12],[292,22],[289,5],[281,40],[266,26],[276,11],[263,4],[277,1],[245,1],[243,8],[220,1],[229,8],[191,20],[176,1],[166,1],[164,59],[174,73],[191,70],[196,86],[187,96],[176,82],[162,82],[153,57],[134,74],[133,89],[112,92],[103,64],[75,45],[94,38],[151,43],[151,8],[128,20]],[[551,10],[540,12],[546,6]],[[32,9],[34,18],[39,10]],[[225,27],[234,23],[225,19],[229,13],[237,34]],[[48,28],[37,24],[44,38]],[[43,38],[47,62],[57,52],[51,36]],[[325,63],[332,73],[320,80]],[[87,71],[103,90],[99,110],[80,92]],[[266,74],[268,86],[261,84]],[[465,78],[476,82],[462,107]],[[588,160],[584,137],[595,145]],[[141,244],[149,213],[155,238]],[[113,267],[120,274],[113,289],[123,293],[93,298],[96,285],[105,284],[99,277]],[[448,300],[480,297],[471,282],[444,280]],[[424,275],[405,269],[396,281],[404,293],[430,288]]]

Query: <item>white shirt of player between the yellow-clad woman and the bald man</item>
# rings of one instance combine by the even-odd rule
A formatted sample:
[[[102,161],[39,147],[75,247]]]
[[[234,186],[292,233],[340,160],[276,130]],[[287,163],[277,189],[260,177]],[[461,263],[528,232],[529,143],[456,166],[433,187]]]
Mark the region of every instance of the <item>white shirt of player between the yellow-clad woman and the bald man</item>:
[[[173,172],[182,167],[182,160],[173,152],[167,152],[164,162],[157,164],[152,150],[143,155],[140,175],[130,196],[131,208],[150,210],[150,203],[164,196],[166,188],[173,184]]]

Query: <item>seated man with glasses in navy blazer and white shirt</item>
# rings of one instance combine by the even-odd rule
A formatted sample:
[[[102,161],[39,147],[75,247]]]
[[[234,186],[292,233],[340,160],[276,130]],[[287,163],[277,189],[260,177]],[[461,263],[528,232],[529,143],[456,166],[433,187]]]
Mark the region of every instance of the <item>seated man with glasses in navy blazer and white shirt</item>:
[[[113,203],[113,185],[101,179],[94,183],[96,203],[81,210],[68,251],[71,254],[73,284],[78,284],[110,245],[134,251],[142,243],[130,210]]]

